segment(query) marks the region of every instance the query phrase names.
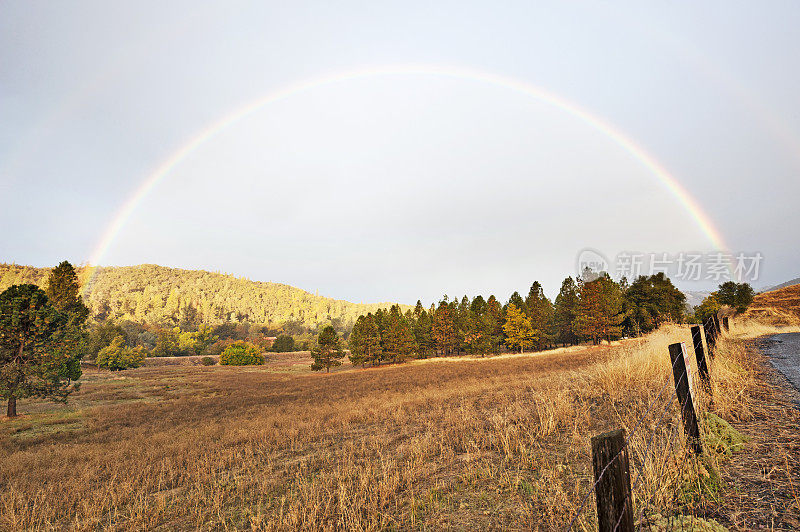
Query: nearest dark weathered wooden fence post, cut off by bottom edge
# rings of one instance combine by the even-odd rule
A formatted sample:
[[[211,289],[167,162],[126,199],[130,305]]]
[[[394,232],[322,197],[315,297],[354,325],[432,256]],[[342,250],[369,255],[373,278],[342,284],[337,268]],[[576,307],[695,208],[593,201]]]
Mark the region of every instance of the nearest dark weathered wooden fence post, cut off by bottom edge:
[[[592,466],[599,531],[632,531],[631,474],[624,429],[592,438]]]

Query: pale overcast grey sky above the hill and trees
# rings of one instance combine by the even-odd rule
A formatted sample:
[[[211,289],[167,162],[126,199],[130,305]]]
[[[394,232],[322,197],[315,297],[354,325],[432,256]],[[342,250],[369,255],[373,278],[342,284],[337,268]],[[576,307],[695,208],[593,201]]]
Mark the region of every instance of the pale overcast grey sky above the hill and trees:
[[[89,261],[164,161],[306,81],[176,158],[94,258],[411,303],[553,296],[586,247],[714,251],[641,157],[502,76],[625,135],[776,284],[800,275],[799,23],[788,1],[0,2],[0,260]]]

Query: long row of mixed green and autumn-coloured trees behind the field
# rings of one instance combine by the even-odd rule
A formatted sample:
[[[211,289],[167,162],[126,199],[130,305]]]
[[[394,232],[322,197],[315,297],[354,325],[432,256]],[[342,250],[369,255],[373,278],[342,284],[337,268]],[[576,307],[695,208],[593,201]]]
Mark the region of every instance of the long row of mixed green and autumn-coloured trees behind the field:
[[[664,322],[686,319],[686,297],[663,273],[632,283],[608,274],[567,277],[554,301],[534,282],[523,297],[501,304],[494,295],[445,296],[429,308],[420,301],[362,314],[348,340],[353,364],[399,363],[410,358],[491,355],[542,350],[583,341],[598,344],[638,336]]]

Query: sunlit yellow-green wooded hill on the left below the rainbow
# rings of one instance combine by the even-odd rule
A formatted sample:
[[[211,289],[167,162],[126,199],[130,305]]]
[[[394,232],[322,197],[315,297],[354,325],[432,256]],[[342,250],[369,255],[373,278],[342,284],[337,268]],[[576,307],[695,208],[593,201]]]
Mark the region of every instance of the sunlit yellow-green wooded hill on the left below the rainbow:
[[[0,290],[19,283],[41,286],[49,272],[49,268],[0,264]],[[100,267],[89,279],[90,273],[79,269],[81,279],[88,283],[86,304],[100,320],[130,319],[152,325],[296,322],[310,328],[334,321],[348,327],[360,314],[390,305],[350,303],[285,284],[153,264]]]

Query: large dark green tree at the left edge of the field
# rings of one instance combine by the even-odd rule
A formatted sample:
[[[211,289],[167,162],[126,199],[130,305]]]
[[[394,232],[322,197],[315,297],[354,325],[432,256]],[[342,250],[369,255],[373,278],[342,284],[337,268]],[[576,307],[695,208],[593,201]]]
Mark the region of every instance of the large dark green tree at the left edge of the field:
[[[70,321],[35,285],[0,294],[0,397],[8,400],[9,417],[17,415],[17,399],[65,402],[77,388],[82,337]]]

